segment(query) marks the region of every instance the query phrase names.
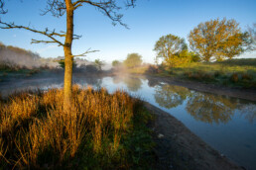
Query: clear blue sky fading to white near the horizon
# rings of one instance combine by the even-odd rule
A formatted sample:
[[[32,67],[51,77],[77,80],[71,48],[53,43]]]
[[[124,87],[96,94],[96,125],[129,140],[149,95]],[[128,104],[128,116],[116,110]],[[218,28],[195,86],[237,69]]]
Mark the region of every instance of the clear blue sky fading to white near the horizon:
[[[119,1],[122,0],[118,0]],[[30,26],[37,30],[65,31],[65,16],[42,16],[44,0],[6,0],[8,13],[0,15],[3,22]],[[88,48],[99,50],[85,59],[124,60],[128,53],[137,52],[144,62],[154,63],[155,42],[168,34],[186,39],[192,29],[211,19],[234,19],[242,30],[256,23],[255,0],[137,0],[135,8],[124,8],[123,26],[113,26],[111,20],[91,6],[83,6],[74,12],[74,34],[81,39],[73,42],[72,53],[80,54]],[[0,42],[38,52],[42,57],[64,56],[58,44],[31,44],[31,40],[47,40],[38,34],[24,30],[0,30]],[[63,40],[64,42],[64,40]],[[189,43],[189,42],[188,42]],[[256,57],[256,52],[239,57]]]

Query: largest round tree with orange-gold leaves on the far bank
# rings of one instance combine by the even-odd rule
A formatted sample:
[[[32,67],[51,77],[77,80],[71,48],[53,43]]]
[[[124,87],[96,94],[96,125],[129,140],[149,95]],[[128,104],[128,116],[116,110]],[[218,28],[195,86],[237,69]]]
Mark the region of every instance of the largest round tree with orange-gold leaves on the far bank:
[[[235,20],[210,20],[200,23],[189,36],[194,51],[203,61],[233,58],[244,51],[244,37]]]

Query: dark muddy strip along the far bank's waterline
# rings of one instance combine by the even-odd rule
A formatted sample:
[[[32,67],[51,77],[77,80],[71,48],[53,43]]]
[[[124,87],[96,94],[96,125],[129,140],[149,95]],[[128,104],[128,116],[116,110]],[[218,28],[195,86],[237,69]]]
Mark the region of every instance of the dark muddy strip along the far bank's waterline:
[[[194,82],[190,80],[179,80],[172,77],[161,77],[161,76],[152,76],[152,75],[146,75],[146,77],[149,79],[149,81],[153,81],[156,83],[164,82],[170,85],[183,86],[199,92],[226,95],[229,97],[240,98],[240,99],[256,102],[256,90],[254,89],[223,87],[220,85],[205,84],[205,83]]]

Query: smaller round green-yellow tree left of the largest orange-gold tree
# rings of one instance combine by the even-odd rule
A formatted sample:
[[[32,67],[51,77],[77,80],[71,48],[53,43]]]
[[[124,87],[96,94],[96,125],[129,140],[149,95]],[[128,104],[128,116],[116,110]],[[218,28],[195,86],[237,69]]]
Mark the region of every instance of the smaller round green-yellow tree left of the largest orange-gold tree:
[[[174,35],[163,36],[156,42],[154,50],[157,52],[156,62],[163,58],[168,66],[176,66],[188,62],[188,45],[184,39]]]

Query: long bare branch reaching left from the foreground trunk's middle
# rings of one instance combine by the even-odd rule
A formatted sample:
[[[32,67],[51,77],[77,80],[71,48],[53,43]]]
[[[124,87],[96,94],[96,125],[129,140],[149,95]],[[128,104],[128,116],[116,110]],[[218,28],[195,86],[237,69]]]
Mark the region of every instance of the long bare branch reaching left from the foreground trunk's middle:
[[[28,31],[31,31],[31,32],[34,32],[34,33],[38,33],[38,34],[44,35],[44,36],[48,37],[49,39],[51,39],[52,42],[56,42],[56,43],[59,43],[59,45],[63,45],[64,46],[64,43],[62,43],[62,42],[58,41],[56,38],[54,38],[54,36],[65,37],[64,34],[55,33],[55,31],[49,32],[48,29],[46,29],[45,32],[42,32],[42,31],[38,31],[38,30],[35,30],[35,29],[31,29],[29,27],[17,26],[14,23],[11,23],[11,24],[4,23],[2,21],[0,21],[0,24],[5,26],[5,27],[0,27],[1,29],[24,29],[24,30],[28,30]],[[35,41],[34,40],[32,42],[35,43],[35,42],[47,42],[47,41]]]

